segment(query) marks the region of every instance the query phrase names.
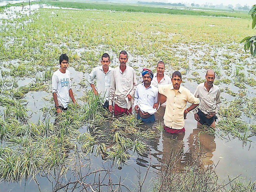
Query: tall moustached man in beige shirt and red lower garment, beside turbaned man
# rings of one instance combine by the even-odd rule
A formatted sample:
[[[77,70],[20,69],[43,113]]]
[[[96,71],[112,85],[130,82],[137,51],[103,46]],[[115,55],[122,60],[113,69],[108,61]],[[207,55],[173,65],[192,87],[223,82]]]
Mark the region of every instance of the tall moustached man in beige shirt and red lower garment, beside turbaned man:
[[[132,97],[134,95],[137,80],[132,67],[126,65],[128,55],[126,51],[119,54],[120,66],[113,69],[112,79],[109,89],[109,106],[110,112],[114,111],[114,115],[132,114]],[[113,102],[115,102],[113,110]]]

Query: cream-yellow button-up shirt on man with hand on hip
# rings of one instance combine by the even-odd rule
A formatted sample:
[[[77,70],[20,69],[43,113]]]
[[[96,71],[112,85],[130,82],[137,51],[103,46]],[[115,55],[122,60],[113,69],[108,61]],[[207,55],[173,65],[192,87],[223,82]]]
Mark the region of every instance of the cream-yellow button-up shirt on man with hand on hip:
[[[182,129],[185,125],[184,110],[187,102],[199,104],[198,98],[182,85],[177,94],[175,94],[173,84],[160,85],[159,93],[167,97],[163,116],[164,125],[172,129]]]

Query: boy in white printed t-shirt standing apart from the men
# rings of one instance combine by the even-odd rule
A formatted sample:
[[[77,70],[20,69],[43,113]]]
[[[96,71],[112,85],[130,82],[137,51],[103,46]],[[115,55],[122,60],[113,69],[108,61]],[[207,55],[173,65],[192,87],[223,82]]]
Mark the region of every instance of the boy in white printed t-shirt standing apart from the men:
[[[60,55],[60,69],[53,73],[52,77],[52,92],[53,100],[57,113],[67,110],[69,97],[75,103],[73,91],[71,89],[70,74],[68,68],[68,56]]]

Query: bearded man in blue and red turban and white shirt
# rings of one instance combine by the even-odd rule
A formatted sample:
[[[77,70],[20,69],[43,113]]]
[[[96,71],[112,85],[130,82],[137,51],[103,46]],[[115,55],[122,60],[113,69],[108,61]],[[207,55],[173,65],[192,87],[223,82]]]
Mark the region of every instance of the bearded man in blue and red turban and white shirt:
[[[155,121],[156,109],[153,108],[157,103],[157,88],[151,84],[154,74],[149,69],[143,69],[141,72],[143,82],[137,85],[134,96],[134,108],[138,114],[138,119],[144,123],[153,123]]]

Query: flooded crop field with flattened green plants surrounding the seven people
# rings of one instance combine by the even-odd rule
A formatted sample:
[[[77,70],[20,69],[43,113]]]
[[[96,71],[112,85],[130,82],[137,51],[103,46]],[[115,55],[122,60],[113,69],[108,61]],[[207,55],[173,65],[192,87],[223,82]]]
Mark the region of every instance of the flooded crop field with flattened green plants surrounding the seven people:
[[[28,13],[10,7],[0,15],[0,191],[161,191],[171,176],[188,186],[209,181],[201,191],[255,190],[256,60],[238,43],[248,19],[46,5]],[[185,134],[173,137],[163,131],[164,108],[146,125],[101,109],[88,74],[105,52],[118,66],[123,49],[138,82],[142,68],[156,71],[163,60],[165,74],[180,71],[194,92],[214,69],[222,101],[216,130],[198,130],[190,112]],[[56,117],[51,77],[62,53],[80,107]]]

